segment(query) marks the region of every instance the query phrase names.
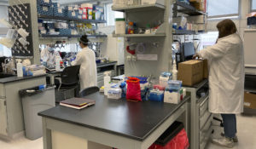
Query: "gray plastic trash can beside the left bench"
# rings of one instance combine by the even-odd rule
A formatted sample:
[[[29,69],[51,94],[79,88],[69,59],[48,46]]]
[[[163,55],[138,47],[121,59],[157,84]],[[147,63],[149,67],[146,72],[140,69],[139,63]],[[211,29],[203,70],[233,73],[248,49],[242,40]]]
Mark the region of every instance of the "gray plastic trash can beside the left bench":
[[[32,92],[34,90],[34,92]],[[55,86],[39,90],[38,87],[20,90],[23,106],[26,138],[37,140],[43,136],[42,117],[38,112],[43,112],[55,107]]]

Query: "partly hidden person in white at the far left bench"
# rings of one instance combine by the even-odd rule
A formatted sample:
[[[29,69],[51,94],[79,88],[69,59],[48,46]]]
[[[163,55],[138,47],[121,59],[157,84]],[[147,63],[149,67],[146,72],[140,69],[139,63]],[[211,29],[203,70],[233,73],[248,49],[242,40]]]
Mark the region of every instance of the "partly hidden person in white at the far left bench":
[[[58,51],[55,51],[54,45],[47,45],[45,49],[41,51],[41,60],[46,63],[47,66],[55,66],[55,57],[61,55]]]

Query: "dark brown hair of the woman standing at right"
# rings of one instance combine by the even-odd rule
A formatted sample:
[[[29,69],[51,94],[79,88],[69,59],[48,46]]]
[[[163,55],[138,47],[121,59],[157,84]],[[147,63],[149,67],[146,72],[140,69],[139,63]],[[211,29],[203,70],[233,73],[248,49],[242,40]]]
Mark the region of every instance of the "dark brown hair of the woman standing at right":
[[[217,25],[217,28],[218,38],[227,37],[237,32],[236,24],[233,22],[233,20],[230,19],[220,21]]]

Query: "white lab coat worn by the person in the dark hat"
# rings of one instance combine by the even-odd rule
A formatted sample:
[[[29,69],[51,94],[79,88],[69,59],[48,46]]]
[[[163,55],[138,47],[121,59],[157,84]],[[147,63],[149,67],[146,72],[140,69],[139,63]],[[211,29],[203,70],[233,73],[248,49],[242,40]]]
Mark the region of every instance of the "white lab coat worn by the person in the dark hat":
[[[84,48],[76,56],[72,66],[80,65],[81,90],[97,86],[96,54],[89,48]]]

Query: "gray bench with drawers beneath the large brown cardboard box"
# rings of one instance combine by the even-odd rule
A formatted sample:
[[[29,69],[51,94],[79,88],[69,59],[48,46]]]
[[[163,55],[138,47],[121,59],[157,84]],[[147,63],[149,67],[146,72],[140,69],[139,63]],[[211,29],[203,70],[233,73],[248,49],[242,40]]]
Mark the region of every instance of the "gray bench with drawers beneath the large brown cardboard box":
[[[187,89],[187,95],[191,96],[188,102],[190,148],[204,149],[213,132],[213,114],[208,111],[208,80],[204,79],[201,83],[184,88]]]

